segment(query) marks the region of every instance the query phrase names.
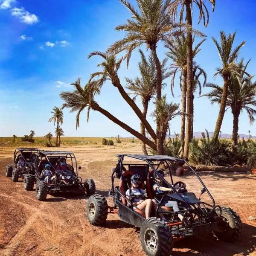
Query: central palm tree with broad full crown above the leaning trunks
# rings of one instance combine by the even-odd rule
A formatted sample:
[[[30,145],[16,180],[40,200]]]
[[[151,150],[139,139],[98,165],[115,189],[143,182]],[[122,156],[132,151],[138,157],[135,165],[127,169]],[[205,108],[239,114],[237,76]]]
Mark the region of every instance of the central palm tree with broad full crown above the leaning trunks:
[[[157,44],[160,41],[166,42],[169,40],[172,32],[183,33],[180,28],[174,31],[177,25],[172,23],[167,14],[167,8],[171,0],[137,0],[138,10],[127,0],[120,0],[120,2],[131,12],[132,18],[128,19],[125,24],[116,27],[116,30],[126,32],[125,37],[109,47],[108,52],[126,51],[124,58],[127,59],[128,66],[132,52],[145,44],[147,49],[151,50],[156,65],[156,101],[159,102],[162,99],[162,72],[157,56]],[[162,154],[160,120],[157,119],[156,124],[157,154]],[[148,132],[151,135],[149,130]],[[154,139],[154,136],[151,135],[151,137]]]

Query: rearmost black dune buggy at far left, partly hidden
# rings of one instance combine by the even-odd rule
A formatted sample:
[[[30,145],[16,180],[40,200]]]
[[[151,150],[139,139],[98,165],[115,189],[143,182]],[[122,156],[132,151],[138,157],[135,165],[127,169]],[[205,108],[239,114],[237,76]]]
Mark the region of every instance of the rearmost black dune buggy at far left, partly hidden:
[[[6,166],[6,177],[12,177],[12,181],[17,182],[19,178],[35,175],[35,162],[32,156],[36,156],[39,148],[16,148],[13,154],[13,166]],[[19,166],[20,157],[24,159],[24,165]]]

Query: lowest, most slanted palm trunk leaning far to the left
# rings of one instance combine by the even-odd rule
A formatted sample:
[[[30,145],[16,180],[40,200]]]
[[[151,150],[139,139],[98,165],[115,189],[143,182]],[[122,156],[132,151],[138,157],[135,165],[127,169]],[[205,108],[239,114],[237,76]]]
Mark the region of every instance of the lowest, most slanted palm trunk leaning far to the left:
[[[101,108],[96,102],[92,102],[91,103],[91,108],[94,111],[99,111],[104,116],[108,117],[108,119],[110,119],[112,122],[114,122],[117,125],[121,126],[123,129],[128,131],[130,134],[134,135],[134,137],[137,137],[139,140],[143,141],[146,145],[151,147],[153,150],[155,150],[155,151],[157,150],[157,145],[153,141],[149,140],[147,137],[143,136],[142,134],[140,134],[139,132],[135,131],[130,126],[126,125],[124,122],[122,122],[119,119],[117,119],[111,113],[109,113],[105,109]]]

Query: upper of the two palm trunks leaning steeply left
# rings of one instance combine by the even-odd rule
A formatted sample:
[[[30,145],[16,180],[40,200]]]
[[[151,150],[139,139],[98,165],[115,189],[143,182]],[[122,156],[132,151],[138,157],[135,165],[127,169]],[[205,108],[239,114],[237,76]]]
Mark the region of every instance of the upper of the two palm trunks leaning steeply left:
[[[147,129],[148,133],[151,135],[151,137],[153,138],[153,140],[156,141],[157,137],[156,134],[153,130],[153,128],[151,127],[151,125],[149,124],[148,120],[145,118],[145,116],[143,115],[143,113],[140,111],[140,108],[138,108],[138,106],[136,105],[136,103],[131,99],[131,97],[125,92],[124,88],[122,87],[119,78],[116,76],[115,79],[113,79],[113,85],[115,87],[117,87],[117,89],[119,90],[119,93],[122,95],[123,99],[125,99],[125,101],[131,106],[131,108],[133,109],[133,111],[136,113],[136,115],[139,117],[140,121],[143,122],[143,125],[145,126],[145,128]]]

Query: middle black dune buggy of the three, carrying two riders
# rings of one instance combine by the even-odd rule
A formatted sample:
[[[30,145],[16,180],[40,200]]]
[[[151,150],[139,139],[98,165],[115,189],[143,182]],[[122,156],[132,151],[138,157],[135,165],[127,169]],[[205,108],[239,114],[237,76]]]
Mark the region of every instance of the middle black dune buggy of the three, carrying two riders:
[[[58,166],[60,160],[65,159],[68,168],[60,175]],[[46,180],[41,174],[46,164],[50,164],[51,173]],[[78,167],[81,169],[81,166]],[[95,193],[95,183],[92,179],[82,182],[77,173],[76,157],[68,151],[38,151],[35,168],[36,198],[44,201],[48,193],[54,192],[82,192],[90,196]],[[25,186],[25,185],[24,185]]]

